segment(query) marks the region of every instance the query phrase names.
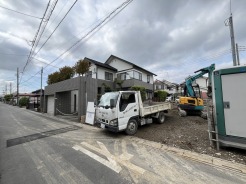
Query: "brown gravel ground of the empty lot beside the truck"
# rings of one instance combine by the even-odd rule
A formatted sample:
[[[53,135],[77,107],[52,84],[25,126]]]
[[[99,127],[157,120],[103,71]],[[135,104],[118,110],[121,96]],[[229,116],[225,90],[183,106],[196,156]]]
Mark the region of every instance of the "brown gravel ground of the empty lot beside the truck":
[[[136,137],[160,142],[177,148],[208,154],[221,159],[246,164],[246,151],[221,148],[219,151],[209,144],[207,120],[199,116],[180,117],[178,110],[166,114],[164,124],[149,124],[139,127]]]

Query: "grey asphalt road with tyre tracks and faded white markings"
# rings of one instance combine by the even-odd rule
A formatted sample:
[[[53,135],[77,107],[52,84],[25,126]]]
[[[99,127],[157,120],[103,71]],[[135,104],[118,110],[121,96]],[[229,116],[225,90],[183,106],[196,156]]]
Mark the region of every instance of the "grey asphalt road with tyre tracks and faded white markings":
[[[0,103],[0,183],[246,183],[246,176]]]

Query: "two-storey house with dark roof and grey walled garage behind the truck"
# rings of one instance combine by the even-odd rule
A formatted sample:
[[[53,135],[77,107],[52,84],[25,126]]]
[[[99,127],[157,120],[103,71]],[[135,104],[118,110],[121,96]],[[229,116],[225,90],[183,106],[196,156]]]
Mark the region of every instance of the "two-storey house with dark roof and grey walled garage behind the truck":
[[[85,76],[61,81],[45,87],[45,112],[49,114],[85,115],[87,102],[93,102],[98,95],[119,86],[114,82],[121,79],[122,89],[143,86],[147,98],[153,96],[153,74],[129,61],[111,55],[105,63],[85,57],[91,63]]]

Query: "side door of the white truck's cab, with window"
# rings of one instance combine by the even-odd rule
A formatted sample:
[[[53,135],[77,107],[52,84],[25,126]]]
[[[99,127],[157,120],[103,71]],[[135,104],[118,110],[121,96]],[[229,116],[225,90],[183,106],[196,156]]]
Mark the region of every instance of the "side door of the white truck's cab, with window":
[[[122,93],[118,111],[119,130],[124,130],[131,117],[139,115],[139,106],[135,93]]]

